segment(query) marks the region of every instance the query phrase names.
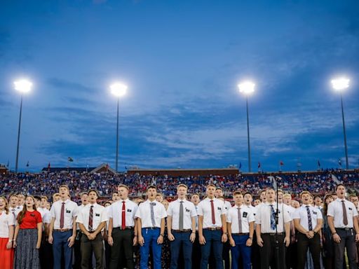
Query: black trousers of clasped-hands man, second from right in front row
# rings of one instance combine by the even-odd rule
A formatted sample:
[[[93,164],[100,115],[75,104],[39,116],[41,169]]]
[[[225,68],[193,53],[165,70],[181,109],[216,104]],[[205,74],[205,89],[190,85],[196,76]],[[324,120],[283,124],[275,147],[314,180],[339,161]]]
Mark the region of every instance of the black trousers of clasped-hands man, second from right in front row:
[[[303,233],[297,234],[297,268],[304,269],[308,248],[313,258],[314,269],[320,269],[320,237],[318,233],[311,239]]]

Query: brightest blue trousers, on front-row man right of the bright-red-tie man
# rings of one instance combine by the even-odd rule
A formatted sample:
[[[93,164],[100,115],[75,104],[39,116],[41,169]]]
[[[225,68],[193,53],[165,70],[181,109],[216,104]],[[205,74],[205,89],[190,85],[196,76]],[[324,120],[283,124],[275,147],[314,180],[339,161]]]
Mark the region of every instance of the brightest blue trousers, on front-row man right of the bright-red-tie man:
[[[157,238],[160,235],[160,228],[142,228],[144,245],[140,247],[140,268],[147,269],[149,262],[149,248],[152,248],[154,256],[154,269],[161,269],[161,252],[162,245],[157,244]]]

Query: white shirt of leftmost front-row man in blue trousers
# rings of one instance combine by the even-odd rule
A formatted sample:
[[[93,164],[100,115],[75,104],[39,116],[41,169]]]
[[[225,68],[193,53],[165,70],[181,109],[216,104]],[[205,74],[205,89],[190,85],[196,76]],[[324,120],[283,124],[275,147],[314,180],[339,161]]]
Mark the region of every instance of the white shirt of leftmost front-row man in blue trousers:
[[[55,218],[54,229],[60,229],[60,217],[61,217],[61,207],[62,200],[54,202],[50,214],[51,218]],[[76,202],[67,199],[65,201],[65,211],[64,211],[64,227],[63,229],[72,229],[74,225],[74,217],[78,214],[78,206]]]

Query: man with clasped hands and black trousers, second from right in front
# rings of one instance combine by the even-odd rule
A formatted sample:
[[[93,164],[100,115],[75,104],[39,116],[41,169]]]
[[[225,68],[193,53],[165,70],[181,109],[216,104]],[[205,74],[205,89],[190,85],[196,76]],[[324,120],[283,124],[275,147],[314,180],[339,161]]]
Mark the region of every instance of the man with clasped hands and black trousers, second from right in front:
[[[294,226],[297,229],[297,268],[304,269],[309,248],[313,258],[314,269],[320,269],[320,236],[323,216],[320,209],[313,207],[311,193],[303,191],[300,195],[303,205],[293,213]]]

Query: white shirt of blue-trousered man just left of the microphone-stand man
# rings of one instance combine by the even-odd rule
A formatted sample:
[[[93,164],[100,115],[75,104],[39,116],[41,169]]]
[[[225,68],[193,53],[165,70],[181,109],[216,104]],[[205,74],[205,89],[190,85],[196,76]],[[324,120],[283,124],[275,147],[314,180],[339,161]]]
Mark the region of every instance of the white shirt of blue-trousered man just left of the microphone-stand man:
[[[231,223],[231,233],[249,233],[250,232],[250,222],[255,221],[255,215],[252,212],[252,209],[247,205],[241,205],[239,207],[241,211],[241,226],[242,230],[239,230],[238,223],[238,205],[234,205],[227,212],[227,222]]]

